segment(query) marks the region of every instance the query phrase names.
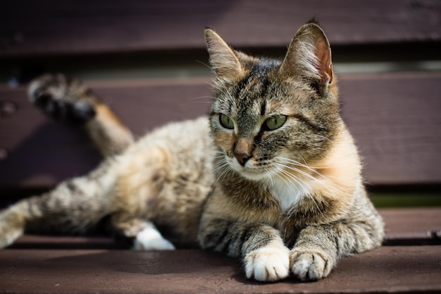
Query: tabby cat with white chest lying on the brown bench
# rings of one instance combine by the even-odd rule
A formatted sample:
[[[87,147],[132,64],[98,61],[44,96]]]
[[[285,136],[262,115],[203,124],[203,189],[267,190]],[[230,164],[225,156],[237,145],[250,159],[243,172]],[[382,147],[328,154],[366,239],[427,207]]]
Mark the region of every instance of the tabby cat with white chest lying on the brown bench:
[[[80,82],[31,83],[31,101],[84,125],[105,159],[0,212],[0,247],[32,229],[82,233],[108,217],[134,249],[173,250],[161,234],[169,232],[242,259],[248,278],[316,281],[342,257],[380,246],[383,220],[340,116],[322,28],[302,25],[282,60],[236,51],[211,29],[205,39],[215,73],[209,117],[139,140]]]

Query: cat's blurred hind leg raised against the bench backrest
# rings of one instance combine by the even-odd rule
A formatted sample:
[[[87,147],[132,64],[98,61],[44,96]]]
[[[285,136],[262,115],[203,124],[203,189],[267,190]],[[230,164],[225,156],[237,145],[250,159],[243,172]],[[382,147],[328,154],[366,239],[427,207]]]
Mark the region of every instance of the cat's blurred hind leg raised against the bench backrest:
[[[120,154],[132,133],[92,90],[65,75],[42,75],[30,83],[30,101],[55,121],[83,125],[104,157]]]

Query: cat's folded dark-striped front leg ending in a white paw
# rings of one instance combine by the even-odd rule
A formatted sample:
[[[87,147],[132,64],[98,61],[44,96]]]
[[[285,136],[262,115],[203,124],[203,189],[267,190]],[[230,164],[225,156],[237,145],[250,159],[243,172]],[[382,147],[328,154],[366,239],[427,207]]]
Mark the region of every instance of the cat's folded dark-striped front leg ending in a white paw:
[[[290,250],[279,231],[263,223],[202,217],[199,242],[204,249],[242,257],[248,278],[278,281],[290,275]]]

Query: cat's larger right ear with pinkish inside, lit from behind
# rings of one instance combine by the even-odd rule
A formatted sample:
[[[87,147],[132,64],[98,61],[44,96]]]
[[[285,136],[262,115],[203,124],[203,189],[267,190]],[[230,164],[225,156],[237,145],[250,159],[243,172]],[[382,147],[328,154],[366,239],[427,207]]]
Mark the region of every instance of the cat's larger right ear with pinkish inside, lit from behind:
[[[320,26],[306,23],[297,30],[280,73],[302,76],[321,86],[328,86],[333,81],[330,45]]]

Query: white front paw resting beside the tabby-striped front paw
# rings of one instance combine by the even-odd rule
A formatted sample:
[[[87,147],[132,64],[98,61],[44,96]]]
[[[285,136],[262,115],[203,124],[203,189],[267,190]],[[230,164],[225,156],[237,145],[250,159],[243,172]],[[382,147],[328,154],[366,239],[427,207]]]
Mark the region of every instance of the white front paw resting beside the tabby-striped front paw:
[[[290,250],[270,243],[249,252],[244,258],[245,274],[257,281],[278,281],[290,275]]]

